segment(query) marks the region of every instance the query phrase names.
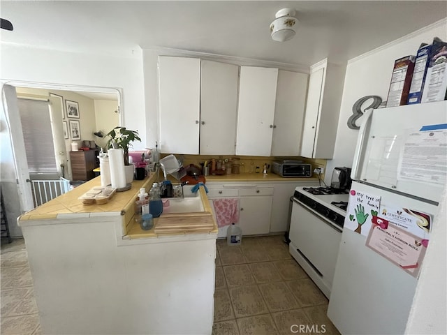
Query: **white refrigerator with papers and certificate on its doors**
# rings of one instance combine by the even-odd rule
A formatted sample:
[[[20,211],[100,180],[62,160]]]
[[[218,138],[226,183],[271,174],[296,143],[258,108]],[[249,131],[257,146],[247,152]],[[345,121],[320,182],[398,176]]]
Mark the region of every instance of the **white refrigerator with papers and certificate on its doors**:
[[[447,101],[365,113],[328,307],[342,334],[404,334],[446,187],[446,137]]]

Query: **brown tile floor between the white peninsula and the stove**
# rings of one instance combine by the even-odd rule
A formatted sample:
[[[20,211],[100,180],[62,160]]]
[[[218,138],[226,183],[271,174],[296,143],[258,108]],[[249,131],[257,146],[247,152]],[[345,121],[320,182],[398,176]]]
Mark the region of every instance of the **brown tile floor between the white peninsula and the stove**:
[[[290,335],[292,325],[295,332],[303,325],[306,334],[339,334],[327,308],[282,236],[243,238],[241,246],[217,241],[213,335]]]

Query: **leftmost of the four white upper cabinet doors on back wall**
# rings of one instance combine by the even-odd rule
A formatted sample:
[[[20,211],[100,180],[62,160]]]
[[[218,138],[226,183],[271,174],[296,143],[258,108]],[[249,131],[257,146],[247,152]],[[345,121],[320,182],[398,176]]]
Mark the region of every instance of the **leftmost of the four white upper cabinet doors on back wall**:
[[[166,154],[198,154],[200,59],[159,57],[160,146]]]

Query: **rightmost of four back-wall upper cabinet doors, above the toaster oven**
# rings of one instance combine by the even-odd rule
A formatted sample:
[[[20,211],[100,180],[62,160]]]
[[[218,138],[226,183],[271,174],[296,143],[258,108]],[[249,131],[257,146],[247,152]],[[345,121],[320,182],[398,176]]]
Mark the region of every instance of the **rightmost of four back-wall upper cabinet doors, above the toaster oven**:
[[[300,156],[308,77],[278,71],[271,156]]]

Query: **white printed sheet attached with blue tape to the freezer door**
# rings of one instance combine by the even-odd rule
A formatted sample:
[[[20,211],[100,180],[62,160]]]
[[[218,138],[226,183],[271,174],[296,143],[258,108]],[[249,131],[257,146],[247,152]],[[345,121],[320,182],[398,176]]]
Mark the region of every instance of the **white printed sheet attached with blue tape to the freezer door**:
[[[397,180],[444,187],[447,181],[447,124],[406,131]]]

